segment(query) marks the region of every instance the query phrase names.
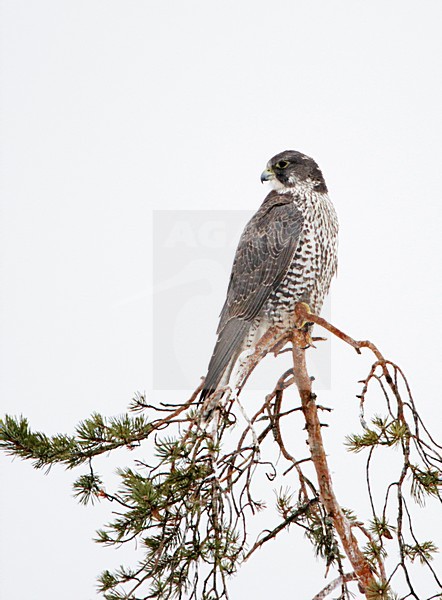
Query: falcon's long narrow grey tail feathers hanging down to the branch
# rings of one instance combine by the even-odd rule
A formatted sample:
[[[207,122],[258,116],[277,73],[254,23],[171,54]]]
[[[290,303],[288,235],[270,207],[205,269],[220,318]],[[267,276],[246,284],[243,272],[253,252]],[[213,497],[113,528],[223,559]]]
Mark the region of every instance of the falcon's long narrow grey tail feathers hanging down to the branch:
[[[218,340],[210,359],[204,388],[200,400],[210,396],[218,387],[221,379],[228,381],[236,359],[240,355],[244,340],[250,330],[250,322],[243,319],[231,319],[219,332]]]

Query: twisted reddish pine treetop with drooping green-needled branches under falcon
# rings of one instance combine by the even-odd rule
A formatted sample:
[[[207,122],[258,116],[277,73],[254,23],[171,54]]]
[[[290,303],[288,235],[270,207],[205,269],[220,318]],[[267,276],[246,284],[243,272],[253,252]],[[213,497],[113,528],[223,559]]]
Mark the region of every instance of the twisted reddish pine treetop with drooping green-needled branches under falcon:
[[[238,394],[262,356],[270,350],[282,353],[287,341],[291,341],[294,365],[251,416],[247,404],[239,405],[237,396],[232,395],[224,399],[224,405],[217,405],[212,423],[204,423],[204,407],[198,402],[201,383],[180,404],[151,404],[138,394],[130,406],[135,414],[104,417],[94,413],[77,426],[73,435],[34,432],[24,417],[6,416],[0,422],[0,448],[31,460],[36,468],[57,463],[69,469],[87,465],[88,471],[74,483],[78,501],[93,504],[103,500],[113,506],[112,520],[97,532],[97,542],[117,547],[137,542],[140,559],[135,566],[102,573],[100,590],[107,600],[227,599],[228,577],[290,526],[303,529],[315,554],[324,560],[326,574],[331,569],[337,572],[338,577],[316,595],[316,600],[338,586],[340,597],[348,600],[354,581],[366,598],[392,600],[396,597],[391,590],[392,580],[400,571],[408,596],[419,599],[409,573],[413,562],[428,569],[442,590],[431,565],[436,545],[418,540],[407,504],[410,497],[419,504],[441,502],[442,447],[422,422],[404,373],[371,342],[353,340],[310,314],[306,305],[298,305],[296,311],[300,323],[317,323],[359,353],[367,348],[374,354],[375,362],[361,381],[362,392],[358,395],[362,431],[347,436],[351,452],[366,451],[368,455],[366,480],[372,510],[368,524],[342,508],[334,494],[318,412],[326,414],[330,409],[316,403],[305,364],[311,340],[301,325],[290,340],[280,339],[274,348],[269,348],[268,340],[257,345]],[[285,394],[295,384],[301,405],[290,403],[284,409]],[[364,409],[376,386],[385,410],[367,426]],[[297,457],[292,432],[302,429],[302,416],[310,455]],[[94,471],[95,458],[118,448],[140,447],[147,439],[149,448],[154,448],[154,458],[149,460],[153,464],[141,460],[138,452],[131,466],[118,469],[116,489],[107,489]],[[277,462],[268,456],[275,444],[280,453]],[[372,494],[372,458],[390,449],[401,455],[402,464],[379,508]],[[311,477],[310,465],[314,466],[317,483]],[[281,484],[275,506],[279,517],[276,525],[263,530],[249,547],[250,520],[257,511],[269,510],[255,496],[260,479]],[[290,485],[284,487],[287,481]],[[396,511],[392,519],[393,501]],[[364,536],[364,547],[358,536]],[[398,544],[400,560],[387,574],[385,557],[392,541]],[[347,562],[352,566],[351,573],[344,569]]]

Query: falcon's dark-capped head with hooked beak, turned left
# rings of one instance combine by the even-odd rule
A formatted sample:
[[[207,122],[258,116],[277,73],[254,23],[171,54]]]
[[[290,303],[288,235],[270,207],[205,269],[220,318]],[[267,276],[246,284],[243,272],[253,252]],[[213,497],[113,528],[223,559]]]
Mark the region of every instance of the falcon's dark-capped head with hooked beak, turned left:
[[[271,158],[261,175],[261,182],[264,181],[269,181],[273,189],[280,192],[295,191],[296,188],[327,192],[316,162],[296,150],[285,150]]]

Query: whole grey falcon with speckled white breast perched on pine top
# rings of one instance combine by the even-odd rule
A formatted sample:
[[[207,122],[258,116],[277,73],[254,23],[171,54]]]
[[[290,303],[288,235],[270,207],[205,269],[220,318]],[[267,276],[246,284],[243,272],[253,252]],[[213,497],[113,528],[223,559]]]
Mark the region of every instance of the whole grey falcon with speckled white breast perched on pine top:
[[[316,162],[281,152],[261,181],[273,189],[239,240],[201,400],[234,387],[235,371],[266,333],[270,350],[293,329],[295,304],[318,314],[336,273],[338,220]]]

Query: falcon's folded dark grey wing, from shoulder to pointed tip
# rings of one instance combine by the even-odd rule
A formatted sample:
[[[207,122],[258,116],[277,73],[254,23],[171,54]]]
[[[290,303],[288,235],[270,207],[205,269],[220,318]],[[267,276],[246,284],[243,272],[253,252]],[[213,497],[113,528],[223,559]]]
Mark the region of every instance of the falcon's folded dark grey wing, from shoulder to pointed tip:
[[[236,250],[201,398],[215,391],[226,369],[232,369],[255,317],[290,267],[302,225],[293,198],[278,192],[267,196],[246,225]]]

